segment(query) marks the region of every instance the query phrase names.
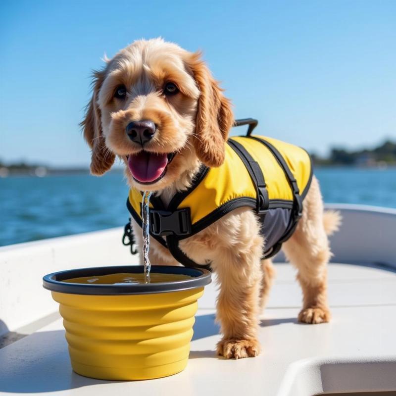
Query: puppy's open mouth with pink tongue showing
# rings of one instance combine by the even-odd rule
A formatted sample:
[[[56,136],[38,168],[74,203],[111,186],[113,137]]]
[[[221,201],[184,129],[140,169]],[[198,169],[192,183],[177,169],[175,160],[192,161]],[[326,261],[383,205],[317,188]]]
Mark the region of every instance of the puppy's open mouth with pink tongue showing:
[[[168,164],[166,154],[156,154],[141,151],[139,154],[130,155],[128,167],[132,176],[142,183],[150,183],[158,179]]]

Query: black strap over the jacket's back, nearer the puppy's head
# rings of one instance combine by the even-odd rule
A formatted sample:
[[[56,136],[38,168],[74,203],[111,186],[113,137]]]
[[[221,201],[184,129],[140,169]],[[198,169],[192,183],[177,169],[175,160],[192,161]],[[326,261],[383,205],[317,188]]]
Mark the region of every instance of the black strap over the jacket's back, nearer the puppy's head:
[[[268,211],[269,199],[267,192],[267,185],[265,184],[264,175],[260,168],[260,165],[254,160],[247,149],[240,143],[230,139],[228,144],[238,156],[242,159],[247,171],[249,172],[250,178],[254,184],[254,188],[257,193],[257,214],[264,215]]]

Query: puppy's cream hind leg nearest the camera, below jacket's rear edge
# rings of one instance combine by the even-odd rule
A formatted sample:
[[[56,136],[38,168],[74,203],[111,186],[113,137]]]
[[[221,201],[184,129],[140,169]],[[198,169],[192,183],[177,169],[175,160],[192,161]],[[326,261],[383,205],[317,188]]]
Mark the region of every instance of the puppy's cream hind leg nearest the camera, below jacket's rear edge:
[[[303,306],[298,321],[330,320],[327,302],[327,263],[331,257],[323,219],[323,201],[314,177],[304,199],[302,217],[293,236],[283,245],[286,257],[297,267]]]

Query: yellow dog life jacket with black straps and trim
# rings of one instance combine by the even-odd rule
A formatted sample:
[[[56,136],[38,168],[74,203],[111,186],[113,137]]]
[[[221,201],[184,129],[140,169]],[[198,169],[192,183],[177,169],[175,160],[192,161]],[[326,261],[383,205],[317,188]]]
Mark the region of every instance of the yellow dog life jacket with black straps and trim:
[[[224,163],[218,168],[202,165],[192,186],[177,193],[167,207],[159,197],[151,196],[150,235],[181,264],[208,267],[188,257],[179,241],[232,210],[248,206],[262,223],[263,256],[271,257],[293,234],[311,178],[311,160],[304,149],[263,136],[231,137]],[[131,189],[127,200],[140,226],[142,198],[142,192]]]

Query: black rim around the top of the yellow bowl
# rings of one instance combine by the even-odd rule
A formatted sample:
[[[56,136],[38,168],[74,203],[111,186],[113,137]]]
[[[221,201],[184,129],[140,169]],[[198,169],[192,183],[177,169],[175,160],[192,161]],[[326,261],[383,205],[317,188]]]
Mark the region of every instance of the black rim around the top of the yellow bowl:
[[[93,285],[82,283],[62,282],[67,279],[85,276],[100,276],[116,273],[144,273],[143,265],[118,265],[107,267],[78,268],[66,271],[52,272],[43,277],[43,287],[51,292],[94,295],[118,296],[179,292],[196,289],[211,282],[211,272],[203,268],[175,267],[171,265],[151,265],[151,273],[189,275],[193,278],[175,282],[125,284],[125,285]]]

